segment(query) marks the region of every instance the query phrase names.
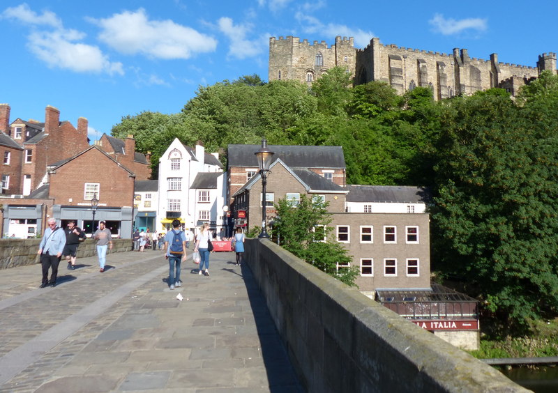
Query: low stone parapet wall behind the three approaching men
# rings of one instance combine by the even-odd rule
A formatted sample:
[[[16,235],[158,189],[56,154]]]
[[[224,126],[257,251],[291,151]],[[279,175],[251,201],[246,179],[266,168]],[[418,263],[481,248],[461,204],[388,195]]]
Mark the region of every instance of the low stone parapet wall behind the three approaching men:
[[[0,239],[0,270],[39,263],[40,239]],[[112,239],[112,253],[132,249],[130,239]],[[95,241],[84,240],[77,249],[77,258],[96,254]]]

